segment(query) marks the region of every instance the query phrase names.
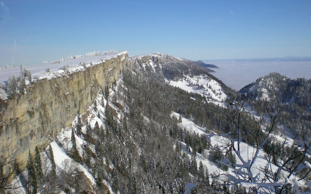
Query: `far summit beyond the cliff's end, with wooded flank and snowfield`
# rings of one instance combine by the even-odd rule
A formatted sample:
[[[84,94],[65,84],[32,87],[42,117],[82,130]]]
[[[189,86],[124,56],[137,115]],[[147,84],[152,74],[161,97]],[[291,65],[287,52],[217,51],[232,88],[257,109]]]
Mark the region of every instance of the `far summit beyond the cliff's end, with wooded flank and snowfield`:
[[[187,92],[200,94],[208,102],[224,105],[227,94],[224,84],[209,74],[213,70],[187,59],[173,57],[163,53],[138,55],[131,57],[137,71],[146,74],[155,81],[164,81]]]

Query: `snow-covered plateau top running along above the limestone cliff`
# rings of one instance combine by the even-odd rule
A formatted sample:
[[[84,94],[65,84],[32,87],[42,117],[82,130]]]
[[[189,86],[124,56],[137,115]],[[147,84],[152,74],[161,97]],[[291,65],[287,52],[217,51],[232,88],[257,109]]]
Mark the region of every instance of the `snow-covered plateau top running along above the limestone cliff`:
[[[23,67],[32,73],[32,78],[34,80],[40,80],[45,78],[52,79],[53,77],[58,77],[66,74],[66,71],[69,73],[81,71],[88,66],[101,64],[105,60],[116,58],[117,56],[126,53],[127,51],[120,51],[108,53],[106,55],[79,57],[73,60],[62,61],[59,64],[38,64],[38,65],[27,65]],[[47,69],[49,69],[50,72],[47,72],[49,71]],[[14,68],[0,69],[0,83],[7,81],[10,75],[19,77],[20,67],[17,66]]]

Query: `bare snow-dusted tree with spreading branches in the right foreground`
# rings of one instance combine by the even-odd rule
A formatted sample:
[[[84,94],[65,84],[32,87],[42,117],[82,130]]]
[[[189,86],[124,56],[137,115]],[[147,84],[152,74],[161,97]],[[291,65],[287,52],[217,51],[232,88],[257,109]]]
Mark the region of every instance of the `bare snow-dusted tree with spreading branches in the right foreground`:
[[[244,126],[242,114],[244,104],[233,102],[227,98],[228,112],[221,111],[231,122],[232,129],[221,134],[229,140],[229,143],[222,146],[222,151],[232,150],[237,156],[238,164],[231,164],[228,160],[222,163],[227,165],[230,173],[220,174],[226,185],[242,185],[250,189],[251,193],[276,193],[284,194],[295,190],[296,192],[306,191],[311,186],[310,181],[310,156],[311,138],[307,129],[300,131],[294,138],[293,143],[284,140],[279,142],[271,138],[277,124],[277,115],[280,113],[279,101],[271,100],[264,104],[264,110],[256,119],[255,129]],[[265,122],[270,122],[268,127],[264,127]],[[242,131],[243,130],[243,131]],[[242,134],[249,134],[254,141],[253,154],[250,158],[243,158]],[[219,135],[210,134],[208,138]],[[277,145],[277,146],[276,146]],[[266,164],[255,164],[259,159],[259,152],[265,153]],[[264,165],[263,167],[261,165]],[[225,177],[224,177],[225,176]]]

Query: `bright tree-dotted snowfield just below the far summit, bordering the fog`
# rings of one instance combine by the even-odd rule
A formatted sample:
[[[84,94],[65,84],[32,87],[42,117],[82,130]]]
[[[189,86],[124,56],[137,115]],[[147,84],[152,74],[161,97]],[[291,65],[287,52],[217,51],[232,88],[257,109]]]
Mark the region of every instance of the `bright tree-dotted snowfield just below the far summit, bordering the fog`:
[[[185,78],[173,81],[173,80],[165,80],[168,84],[179,87],[187,92],[193,92],[196,94],[200,94],[203,97],[207,97],[208,102],[214,102],[215,104],[223,105],[227,95],[224,93],[221,85],[209,78],[207,75],[200,76],[186,76]],[[198,84],[198,85],[197,85]],[[203,86],[203,88],[199,88],[199,86]],[[215,92],[215,93],[214,93]]]

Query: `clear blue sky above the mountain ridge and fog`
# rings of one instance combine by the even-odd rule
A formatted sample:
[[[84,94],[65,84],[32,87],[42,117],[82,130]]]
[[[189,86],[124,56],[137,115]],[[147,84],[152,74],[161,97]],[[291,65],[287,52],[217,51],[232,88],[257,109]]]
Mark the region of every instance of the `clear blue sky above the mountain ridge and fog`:
[[[0,0],[0,66],[127,50],[191,60],[311,55],[311,0]],[[20,52],[20,53],[19,53]]]

